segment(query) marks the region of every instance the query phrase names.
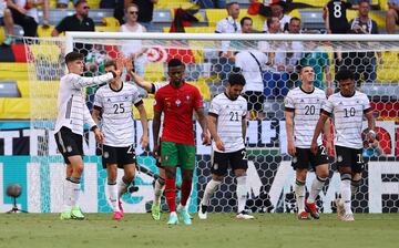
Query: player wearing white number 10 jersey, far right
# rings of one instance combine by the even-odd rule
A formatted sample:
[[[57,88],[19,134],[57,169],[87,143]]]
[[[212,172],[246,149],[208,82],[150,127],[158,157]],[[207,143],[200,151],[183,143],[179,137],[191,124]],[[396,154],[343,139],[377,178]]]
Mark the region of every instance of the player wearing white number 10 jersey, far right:
[[[336,130],[335,147],[338,172],[341,177],[340,195],[336,200],[338,218],[344,221],[352,221],[351,195],[357,192],[361,172],[365,166],[362,158],[362,120],[367,118],[369,142],[376,138],[375,120],[372,108],[366,94],[355,90],[355,76],[349,70],[340,70],[336,74],[340,92],[332,94],[326,101],[321,115],[317,122],[311,141],[311,152],[317,153],[317,137],[321,127],[329,116],[334,116]]]

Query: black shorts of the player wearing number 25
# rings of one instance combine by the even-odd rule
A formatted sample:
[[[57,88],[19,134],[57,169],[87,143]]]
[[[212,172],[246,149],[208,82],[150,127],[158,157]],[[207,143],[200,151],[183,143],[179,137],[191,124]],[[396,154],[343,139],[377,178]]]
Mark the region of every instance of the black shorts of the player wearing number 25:
[[[103,168],[106,168],[106,164],[116,164],[119,168],[123,168],[124,165],[135,164],[134,146],[113,147],[103,145],[102,164]]]

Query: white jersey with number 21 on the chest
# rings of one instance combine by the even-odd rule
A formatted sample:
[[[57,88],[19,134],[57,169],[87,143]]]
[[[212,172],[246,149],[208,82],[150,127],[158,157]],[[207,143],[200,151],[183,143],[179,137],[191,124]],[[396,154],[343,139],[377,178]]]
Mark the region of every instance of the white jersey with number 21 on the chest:
[[[208,114],[217,116],[216,131],[225,146],[224,152],[218,151],[213,142],[214,151],[232,153],[245,148],[242,121],[247,114],[247,101],[243,96],[231,100],[226,93],[216,95],[211,102]]]

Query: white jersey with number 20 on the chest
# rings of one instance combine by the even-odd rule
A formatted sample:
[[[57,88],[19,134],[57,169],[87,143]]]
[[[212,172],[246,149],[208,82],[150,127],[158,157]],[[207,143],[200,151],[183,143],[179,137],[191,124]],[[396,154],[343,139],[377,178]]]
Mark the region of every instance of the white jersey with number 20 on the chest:
[[[286,111],[294,112],[294,141],[299,148],[310,148],[316,124],[319,120],[326,94],[315,87],[313,92],[301,87],[290,90],[285,97]],[[321,145],[321,135],[317,137],[317,145]]]

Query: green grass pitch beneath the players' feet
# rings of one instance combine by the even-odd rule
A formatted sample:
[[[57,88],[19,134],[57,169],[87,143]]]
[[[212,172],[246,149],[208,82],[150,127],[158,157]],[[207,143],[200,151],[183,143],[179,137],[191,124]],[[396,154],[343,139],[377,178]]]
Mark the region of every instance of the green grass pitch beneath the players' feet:
[[[319,220],[297,220],[293,214],[257,214],[237,220],[233,214],[208,214],[193,225],[166,225],[166,214],[86,214],[85,220],[60,220],[58,214],[1,214],[1,248],[35,247],[399,247],[399,214],[356,214],[354,223],[324,214]]]

